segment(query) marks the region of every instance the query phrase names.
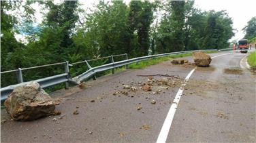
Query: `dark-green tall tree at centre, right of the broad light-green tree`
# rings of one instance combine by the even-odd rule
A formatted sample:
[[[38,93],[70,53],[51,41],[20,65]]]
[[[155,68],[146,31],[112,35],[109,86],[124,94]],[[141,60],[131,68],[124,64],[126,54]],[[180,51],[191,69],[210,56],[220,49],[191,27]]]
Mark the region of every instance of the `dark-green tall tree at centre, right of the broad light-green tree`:
[[[131,1],[127,20],[126,49],[133,56],[146,56],[150,47],[150,24],[155,4],[148,1]]]

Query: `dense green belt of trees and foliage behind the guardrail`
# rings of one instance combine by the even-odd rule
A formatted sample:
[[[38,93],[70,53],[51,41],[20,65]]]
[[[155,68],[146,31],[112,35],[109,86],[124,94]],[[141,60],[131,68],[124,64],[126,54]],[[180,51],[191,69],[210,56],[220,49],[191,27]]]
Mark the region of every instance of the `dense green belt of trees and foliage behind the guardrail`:
[[[33,3],[46,9],[44,21],[36,28],[35,9],[30,6]],[[18,24],[18,16],[12,11],[21,8],[25,19]],[[251,29],[246,27],[246,31]],[[91,11],[81,9],[78,1],[1,1],[1,71],[114,54],[127,53],[132,58],[188,49],[220,49],[229,45],[232,30],[232,20],[224,11],[202,12],[193,7],[193,1],[99,1]],[[26,44],[16,40],[19,31],[25,33]],[[251,35],[248,32],[247,36]],[[103,62],[108,61],[97,64]],[[33,70],[25,77],[37,79],[62,70]],[[14,83],[7,77],[1,79],[2,87]]]

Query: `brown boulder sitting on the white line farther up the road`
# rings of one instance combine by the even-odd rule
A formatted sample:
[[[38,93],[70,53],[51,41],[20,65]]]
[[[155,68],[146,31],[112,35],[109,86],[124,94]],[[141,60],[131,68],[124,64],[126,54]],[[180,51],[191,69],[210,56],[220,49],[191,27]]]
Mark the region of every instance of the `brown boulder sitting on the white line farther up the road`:
[[[209,66],[212,59],[204,52],[193,52],[193,60],[196,66]]]

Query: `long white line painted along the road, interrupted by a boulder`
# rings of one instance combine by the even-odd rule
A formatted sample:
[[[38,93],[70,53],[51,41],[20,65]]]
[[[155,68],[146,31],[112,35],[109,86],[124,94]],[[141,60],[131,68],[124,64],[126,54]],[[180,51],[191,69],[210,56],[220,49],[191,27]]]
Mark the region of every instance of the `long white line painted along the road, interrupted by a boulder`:
[[[228,54],[232,54],[232,53],[228,53]],[[213,56],[212,58],[216,58],[219,56],[225,56],[228,54],[221,54],[221,55]],[[169,134],[169,131],[170,131],[170,128],[172,125],[172,121],[174,119],[174,114],[176,113],[176,110],[178,108],[178,102],[180,102],[180,98],[182,96],[182,92],[186,86],[187,81],[189,81],[189,77],[191,77],[191,75],[194,73],[196,68],[197,67],[193,68],[193,70],[191,70],[189,72],[189,75],[187,75],[187,77],[185,78],[184,83],[182,83],[182,86],[178,89],[178,92],[174,98],[174,101],[172,102],[172,105],[167,113],[165,121],[163,122],[163,126],[162,126],[159,136],[157,138],[157,143],[165,143],[166,142],[167,136]]]

